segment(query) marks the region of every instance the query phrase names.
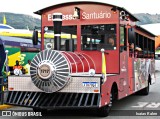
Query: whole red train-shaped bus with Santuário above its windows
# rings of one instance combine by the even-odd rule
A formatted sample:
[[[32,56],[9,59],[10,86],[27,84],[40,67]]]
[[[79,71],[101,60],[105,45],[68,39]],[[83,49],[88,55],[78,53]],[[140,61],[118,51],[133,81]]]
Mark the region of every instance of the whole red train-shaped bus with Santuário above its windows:
[[[70,2],[35,13],[41,15],[42,51],[31,62],[30,76],[8,76],[6,104],[35,111],[96,108],[107,116],[115,100],[138,91],[148,95],[155,83],[155,35],[137,26],[129,11]],[[47,30],[54,31],[54,40],[46,49]],[[61,34],[69,37],[62,40]]]

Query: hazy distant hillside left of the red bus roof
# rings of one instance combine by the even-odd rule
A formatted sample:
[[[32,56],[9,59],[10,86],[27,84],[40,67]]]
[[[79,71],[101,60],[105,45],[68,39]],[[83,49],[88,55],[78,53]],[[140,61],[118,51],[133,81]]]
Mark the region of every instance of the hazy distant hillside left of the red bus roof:
[[[3,15],[5,14],[7,24],[15,29],[34,29],[35,26],[41,26],[41,20],[30,15],[15,14],[8,12],[0,12],[0,23],[3,23]]]

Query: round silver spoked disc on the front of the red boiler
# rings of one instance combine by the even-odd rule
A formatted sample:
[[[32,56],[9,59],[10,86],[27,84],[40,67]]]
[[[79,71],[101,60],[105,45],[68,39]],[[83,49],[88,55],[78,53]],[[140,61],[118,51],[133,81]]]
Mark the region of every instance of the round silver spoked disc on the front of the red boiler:
[[[33,58],[30,74],[35,86],[44,92],[52,93],[67,84],[70,79],[70,68],[61,52],[46,49]]]

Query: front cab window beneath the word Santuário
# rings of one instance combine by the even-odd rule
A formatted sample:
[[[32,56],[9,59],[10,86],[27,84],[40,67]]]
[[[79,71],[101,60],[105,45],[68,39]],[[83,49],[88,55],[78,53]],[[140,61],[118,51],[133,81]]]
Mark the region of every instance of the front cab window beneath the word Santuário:
[[[116,50],[116,25],[82,25],[82,50]]]

